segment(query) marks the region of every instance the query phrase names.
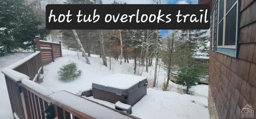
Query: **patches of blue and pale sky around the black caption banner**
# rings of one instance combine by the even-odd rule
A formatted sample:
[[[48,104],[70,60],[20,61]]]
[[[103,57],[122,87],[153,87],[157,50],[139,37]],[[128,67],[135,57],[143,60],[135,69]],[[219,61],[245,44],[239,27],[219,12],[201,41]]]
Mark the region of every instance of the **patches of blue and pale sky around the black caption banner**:
[[[114,0],[102,0],[103,4],[111,4]],[[118,0],[116,0],[118,1]],[[189,4],[190,0],[161,0],[161,4]],[[128,4],[152,4],[152,0],[120,0]],[[192,0],[193,4],[198,4],[198,0]],[[160,30],[163,37],[167,36],[167,30]]]

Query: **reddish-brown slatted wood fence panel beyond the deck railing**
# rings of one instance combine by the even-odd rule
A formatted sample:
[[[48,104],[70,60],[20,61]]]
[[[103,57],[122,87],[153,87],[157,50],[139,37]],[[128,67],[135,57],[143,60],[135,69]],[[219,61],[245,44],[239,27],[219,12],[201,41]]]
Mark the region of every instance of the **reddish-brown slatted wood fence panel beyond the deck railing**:
[[[53,43],[48,41],[42,41],[36,36],[34,42],[36,43],[36,51],[42,53],[43,64],[54,62],[55,59],[62,57],[61,42]]]

